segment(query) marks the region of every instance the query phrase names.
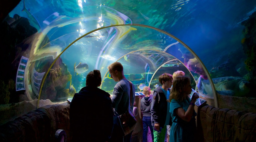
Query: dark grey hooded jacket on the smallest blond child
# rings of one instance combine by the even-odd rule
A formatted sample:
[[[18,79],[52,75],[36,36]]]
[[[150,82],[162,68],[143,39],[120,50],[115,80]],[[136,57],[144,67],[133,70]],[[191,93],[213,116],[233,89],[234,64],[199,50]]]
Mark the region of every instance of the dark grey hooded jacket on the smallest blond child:
[[[141,112],[143,113],[143,116],[150,116],[151,117],[151,102],[152,102],[152,97],[143,97],[141,99]]]

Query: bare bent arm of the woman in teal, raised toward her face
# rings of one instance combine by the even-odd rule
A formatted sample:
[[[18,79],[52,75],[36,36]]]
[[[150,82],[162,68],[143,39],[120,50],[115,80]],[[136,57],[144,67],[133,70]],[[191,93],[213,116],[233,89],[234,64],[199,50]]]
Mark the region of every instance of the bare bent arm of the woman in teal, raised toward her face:
[[[188,106],[187,111],[185,112],[185,110],[182,107],[179,107],[177,109],[175,109],[175,113],[184,121],[189,122],[192,119],[193,116],[193,112],[194,112],[194,107],[195,107],[195,102],[196,99],[199,98],[198,93],[194,93],[191,99],[191,102]]]

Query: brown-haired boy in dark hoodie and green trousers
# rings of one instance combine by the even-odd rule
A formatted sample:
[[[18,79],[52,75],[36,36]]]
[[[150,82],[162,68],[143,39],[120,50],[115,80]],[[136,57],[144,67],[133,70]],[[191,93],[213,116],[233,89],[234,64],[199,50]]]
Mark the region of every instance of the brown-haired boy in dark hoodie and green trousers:
[[[169,95],[172,87],[173,77],[171,74],[164,73],[159,76],[162,87],[154,89],[153,100],[151,103],[151,121],[154,128],[154,142],[165,140],[166,125],[172,125],[170,121]]]

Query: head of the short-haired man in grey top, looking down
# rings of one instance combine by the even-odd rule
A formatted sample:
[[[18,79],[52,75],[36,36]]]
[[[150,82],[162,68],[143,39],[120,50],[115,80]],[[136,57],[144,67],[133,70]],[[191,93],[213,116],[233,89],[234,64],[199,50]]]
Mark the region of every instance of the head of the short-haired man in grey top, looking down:
[[[119,81],[119,78],[123,76],[123,65],[119,62],[114,62],[108,66],[110,77],[114,81]]]

